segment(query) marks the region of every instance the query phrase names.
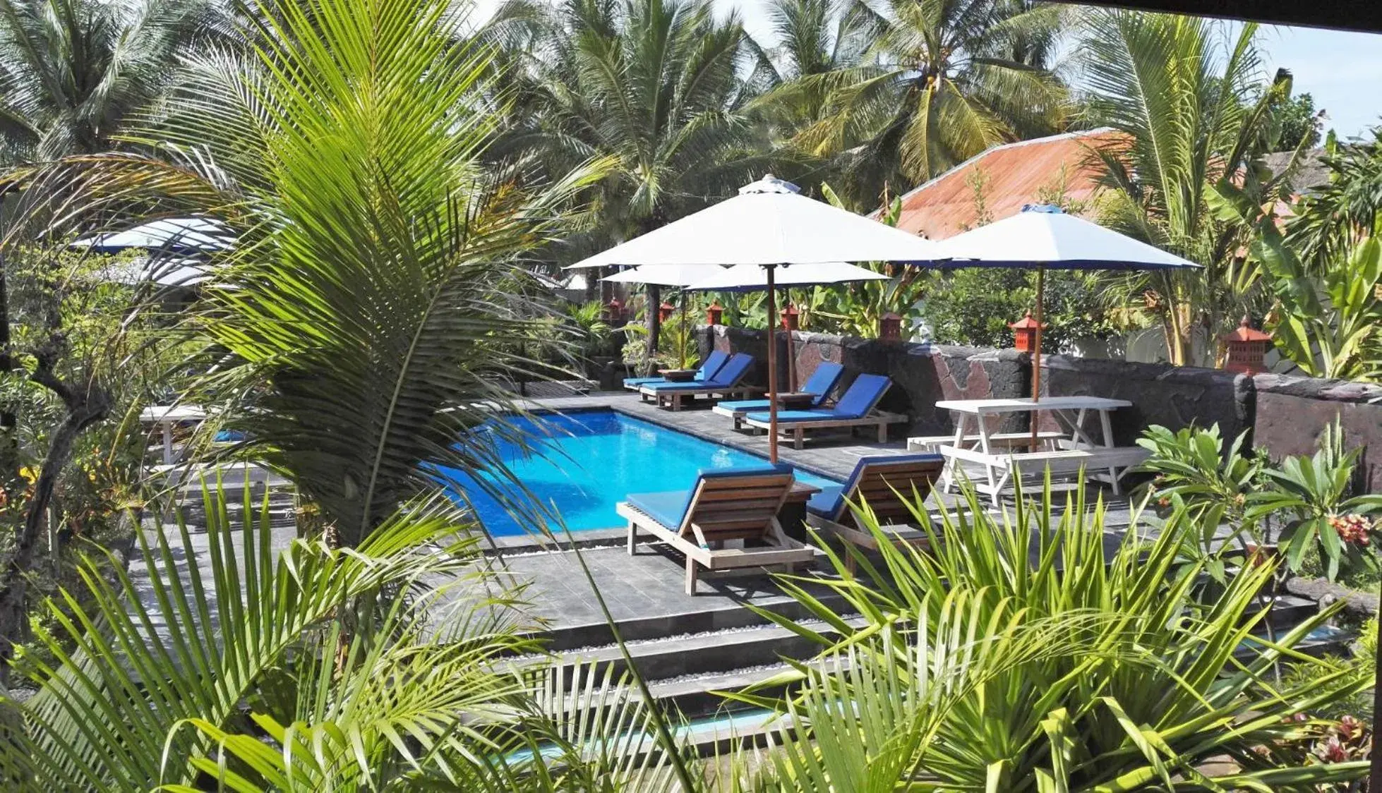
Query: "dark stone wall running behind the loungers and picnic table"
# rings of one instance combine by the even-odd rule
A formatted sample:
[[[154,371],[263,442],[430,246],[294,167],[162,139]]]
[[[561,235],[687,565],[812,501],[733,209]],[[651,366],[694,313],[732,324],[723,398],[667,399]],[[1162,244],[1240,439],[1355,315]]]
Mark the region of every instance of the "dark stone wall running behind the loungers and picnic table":
[[[951,416],[936,409],[940,399],[1027,396],[1031,359],[1013,350],[984,350],[941,344],[884,343],[824,333],[793,333],[796,381],[802,383],[822,361],[846,367],[840,388],[868,372],[887,374],[894,387],[884,410],[911,417],[908,435],[941,435],[954,428]],[[778,334],[779,361],[786,361],[786,334]],[[767,354],[763,332],[702,327],[701,347],[749,352],[760,362],[757,383],[766,384]],[[788,367],[778,367],[778,387],[788,388]],[[1114,439],[1132,445],[1142,430],[1161,424],[1179,430],[1218,424],[1224,437],[1248,431],[1256,448],[1274,457],[1310,453],[1324,427],[1338,419],[1350,443],[1364,446],[1361,471],[1371,492],[1382,492],[1382,387],[1342,380],[1313,380],[1281,374],[1248,377],[1220,369],[1133,363],[1070,355],[1042,356],[1042,395],[1092,394],[1128,399],[1132,408],[1114,413]],[[1017,416],[1005,431],[1025,427]]]

